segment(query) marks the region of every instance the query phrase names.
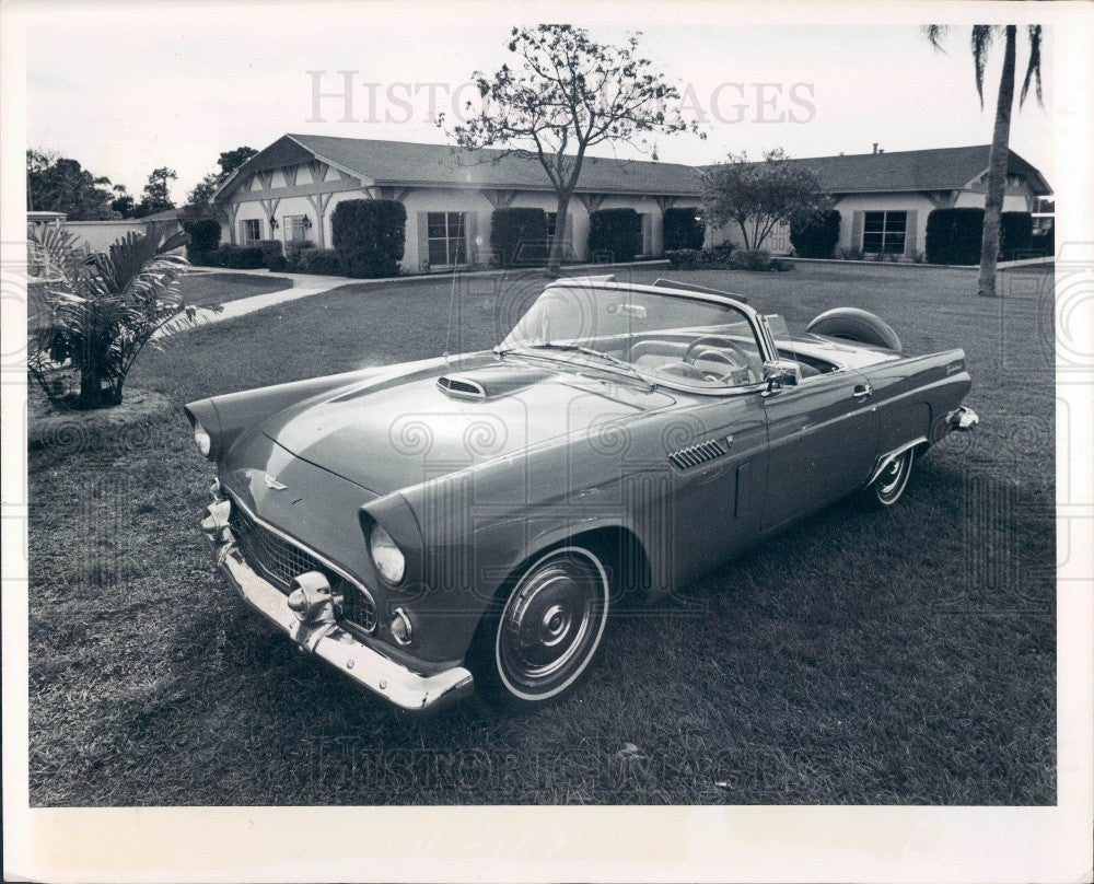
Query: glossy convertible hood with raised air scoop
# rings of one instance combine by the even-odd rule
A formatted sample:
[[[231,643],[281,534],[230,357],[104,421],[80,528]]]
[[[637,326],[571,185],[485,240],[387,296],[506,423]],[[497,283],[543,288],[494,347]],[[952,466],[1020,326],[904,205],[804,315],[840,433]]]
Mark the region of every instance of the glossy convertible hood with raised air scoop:
[[[311,398],[259,432],[386,495],[673,403],[624,376],[487,358]]]

